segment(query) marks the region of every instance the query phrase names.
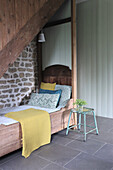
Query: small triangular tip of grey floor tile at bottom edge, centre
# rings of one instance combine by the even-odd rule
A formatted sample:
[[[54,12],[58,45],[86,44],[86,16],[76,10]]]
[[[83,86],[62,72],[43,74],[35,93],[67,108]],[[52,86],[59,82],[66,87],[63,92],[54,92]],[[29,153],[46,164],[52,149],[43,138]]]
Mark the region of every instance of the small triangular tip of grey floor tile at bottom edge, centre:
[[[67,170],[67,168],[51,163],[48,166],[46,166],[43,170]]]

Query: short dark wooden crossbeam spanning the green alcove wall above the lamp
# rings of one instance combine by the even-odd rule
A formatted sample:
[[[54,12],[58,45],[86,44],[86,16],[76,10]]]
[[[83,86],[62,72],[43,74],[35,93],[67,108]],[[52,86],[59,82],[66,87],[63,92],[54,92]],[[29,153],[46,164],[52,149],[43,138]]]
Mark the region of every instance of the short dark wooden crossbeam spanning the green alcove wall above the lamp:
[[[65,18],[65,19],[60,19],[60,20],[53,21],[53,22],[49,22],[45,25],[44,28],[53,27],[53,26],[65,24],[65,23],[68,23],[68,22],[71,22],[71,17]]]

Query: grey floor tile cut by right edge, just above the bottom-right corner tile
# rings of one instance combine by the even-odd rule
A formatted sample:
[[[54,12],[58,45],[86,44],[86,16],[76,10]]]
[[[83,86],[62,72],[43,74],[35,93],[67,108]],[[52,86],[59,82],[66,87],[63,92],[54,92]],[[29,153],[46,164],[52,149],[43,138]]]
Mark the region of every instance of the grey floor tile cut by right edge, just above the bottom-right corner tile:
[[[102,158],[105,161],[113,162],[113,145],[106,144],[99,151],[95,153],[95,156],[98,158]]]

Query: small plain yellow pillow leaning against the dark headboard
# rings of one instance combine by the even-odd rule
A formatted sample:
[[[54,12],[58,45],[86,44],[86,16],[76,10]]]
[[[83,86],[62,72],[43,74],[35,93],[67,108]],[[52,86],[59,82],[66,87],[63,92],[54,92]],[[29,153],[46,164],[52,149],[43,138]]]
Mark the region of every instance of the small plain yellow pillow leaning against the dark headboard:
[[[45,89],[45,90],[55,90],[55,85],[56,83],[43,83],[41,82],[41,89]]]

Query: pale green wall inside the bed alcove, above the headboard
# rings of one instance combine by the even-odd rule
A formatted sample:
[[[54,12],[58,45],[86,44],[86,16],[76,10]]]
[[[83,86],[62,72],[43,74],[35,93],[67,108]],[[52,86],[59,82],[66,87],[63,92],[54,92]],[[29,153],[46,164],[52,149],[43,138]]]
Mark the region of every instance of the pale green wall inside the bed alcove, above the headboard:
[[[51,21],[71,16],[71,1],[67,0]],[[71,23],[44,29],[46,42],[42,44],[42,68],[63,64],[71,68]]]

